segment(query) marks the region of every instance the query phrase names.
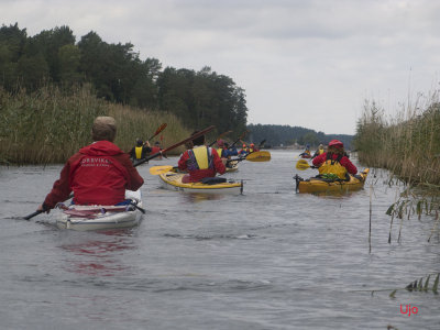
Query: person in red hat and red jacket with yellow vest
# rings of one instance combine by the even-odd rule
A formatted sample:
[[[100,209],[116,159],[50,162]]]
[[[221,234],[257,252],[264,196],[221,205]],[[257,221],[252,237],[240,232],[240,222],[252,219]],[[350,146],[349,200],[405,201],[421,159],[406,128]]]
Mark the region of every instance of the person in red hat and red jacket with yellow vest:
[[[315,157],[312,163],[318,167],[320,175],[337,175],[340,179],[346,179],[348,173],[358,173],[356,166],[345,156],[343,143],[339,140],[331,140],[327,152]]]

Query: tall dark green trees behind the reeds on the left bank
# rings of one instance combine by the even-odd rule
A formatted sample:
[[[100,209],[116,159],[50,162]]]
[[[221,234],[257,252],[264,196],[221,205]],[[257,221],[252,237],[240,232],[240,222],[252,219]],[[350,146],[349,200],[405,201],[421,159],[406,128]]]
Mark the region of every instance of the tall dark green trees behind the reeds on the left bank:
[[[26,29],[0,29],[0,88],[33,92],[47,84],[68,89],[91,84],[105,100],[177,116],[187,128],[216,124],[219,132],[244,131],[244,90],[209,67],[199,72],[141,59],[131,43],[109,44],[96,32],[76,42],[68,26],[28,36]]]

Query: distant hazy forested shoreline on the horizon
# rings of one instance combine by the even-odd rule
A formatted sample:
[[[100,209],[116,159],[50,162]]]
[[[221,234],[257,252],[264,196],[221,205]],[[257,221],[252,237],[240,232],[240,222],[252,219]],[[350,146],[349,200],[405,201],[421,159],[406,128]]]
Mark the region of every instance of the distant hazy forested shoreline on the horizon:
[[[260,143],[265,140],[268,146],[288,146],[288,145],[306,145],[317,146],[320,143],[327,144],[330,140],[338,139],[343,142],[345,148],[351,148],[353,135],[346,134],[324,134],[310,129],[289,125],[270,125],[270,124],[249,124],[248,130],[250,140]]]

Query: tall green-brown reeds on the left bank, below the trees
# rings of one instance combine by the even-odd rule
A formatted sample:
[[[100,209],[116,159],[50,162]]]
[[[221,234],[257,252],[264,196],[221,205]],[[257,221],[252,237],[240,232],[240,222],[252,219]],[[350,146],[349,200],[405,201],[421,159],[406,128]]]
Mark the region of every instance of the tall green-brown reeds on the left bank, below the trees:
[[[14,95],[0,88],[0,163],[64,163],[91,143],[97,116],[116,118],[116,143],[125,152],[136,138],[150,138],[163,122],[168,124],[162,133],[165,146],[190,133],[173,114],[109,103],[98,99],[90,86],[65,90],[47,85],[37,92]]]

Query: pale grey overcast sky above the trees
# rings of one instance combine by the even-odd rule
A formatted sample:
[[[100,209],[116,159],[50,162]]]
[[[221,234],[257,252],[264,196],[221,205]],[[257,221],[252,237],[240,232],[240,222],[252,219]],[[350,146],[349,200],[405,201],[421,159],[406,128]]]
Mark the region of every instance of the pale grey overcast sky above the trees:
[[[132,43],[163,67],[231,77],[249,123],[354,134],[364,100],[387,111],[439,88],[437,0],[0,0],[28,35],[68,25]]]

